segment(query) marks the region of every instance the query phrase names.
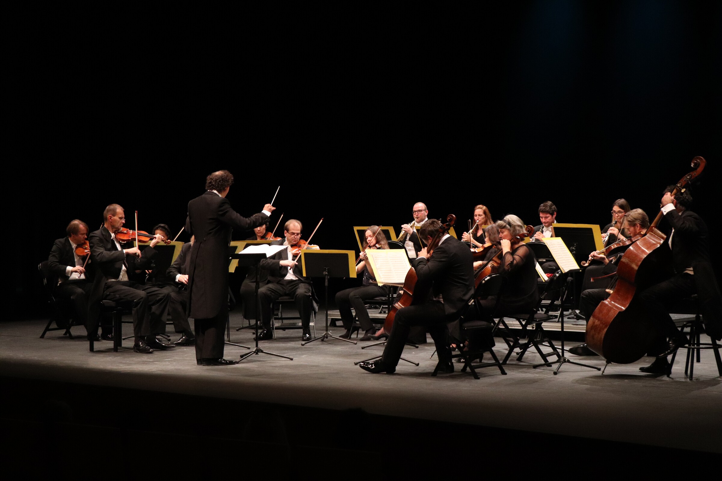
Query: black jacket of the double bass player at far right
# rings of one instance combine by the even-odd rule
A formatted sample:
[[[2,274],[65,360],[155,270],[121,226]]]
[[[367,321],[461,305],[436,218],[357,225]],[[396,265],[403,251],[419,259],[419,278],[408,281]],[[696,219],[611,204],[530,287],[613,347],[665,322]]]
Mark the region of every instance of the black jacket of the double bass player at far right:
[[[664,219],[674,229],[671,238],[674,272],[683,273],[692,268],[707,333],[721,340],[722,294],[710,262],[707,224],[696,213],[687,210],[682,213],[669,211],[664,214]]]

